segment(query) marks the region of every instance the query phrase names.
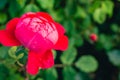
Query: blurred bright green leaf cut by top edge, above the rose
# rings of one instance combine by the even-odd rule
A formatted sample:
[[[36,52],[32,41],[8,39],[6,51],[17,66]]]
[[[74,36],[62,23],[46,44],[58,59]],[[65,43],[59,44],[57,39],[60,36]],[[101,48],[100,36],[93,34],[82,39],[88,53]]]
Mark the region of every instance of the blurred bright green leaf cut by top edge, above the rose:
[[[37,2],[43,9],[52,9],[54,6],[54,0],[37,0]]]

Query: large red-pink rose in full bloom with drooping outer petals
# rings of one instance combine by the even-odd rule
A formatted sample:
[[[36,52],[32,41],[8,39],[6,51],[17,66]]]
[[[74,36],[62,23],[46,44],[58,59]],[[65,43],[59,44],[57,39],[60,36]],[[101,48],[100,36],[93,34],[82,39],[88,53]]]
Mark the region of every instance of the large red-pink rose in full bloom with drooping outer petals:
[[[47,13],[28,12],[10,20],[6,29],[0,30],[0,43],[4,46],[27,47],[29,53],[26,69],[34,75],[39,68],[54,65],[52,49],[67,49],[68,38],[64,33],[64,28]]]

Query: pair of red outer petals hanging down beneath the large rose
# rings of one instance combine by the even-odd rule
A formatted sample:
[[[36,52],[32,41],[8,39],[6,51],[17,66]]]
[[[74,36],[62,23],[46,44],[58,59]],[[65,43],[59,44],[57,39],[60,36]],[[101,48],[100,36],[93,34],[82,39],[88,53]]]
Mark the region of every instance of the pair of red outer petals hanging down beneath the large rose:
[[[29,74],[35,75],[38,73],[39,68],[50,68],[53,65],[54,59],[51,50],[48,50],[45,53],[30,51],[28,54],[26,69]]]

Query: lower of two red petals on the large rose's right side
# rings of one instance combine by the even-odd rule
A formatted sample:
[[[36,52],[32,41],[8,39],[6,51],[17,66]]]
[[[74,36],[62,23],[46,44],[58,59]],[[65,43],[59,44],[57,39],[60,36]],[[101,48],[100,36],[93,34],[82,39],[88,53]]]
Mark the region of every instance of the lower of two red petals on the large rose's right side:
[[[54,49],[66,50],[68,48],[68,38],[66,36],[60,36],[58,42],[55,44]]]

